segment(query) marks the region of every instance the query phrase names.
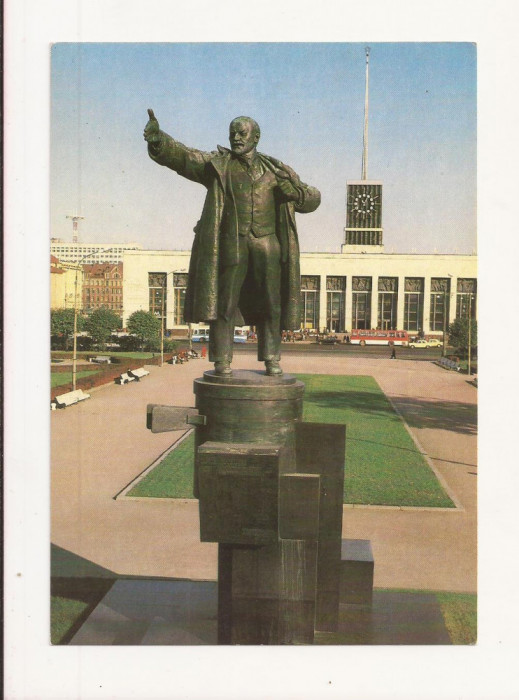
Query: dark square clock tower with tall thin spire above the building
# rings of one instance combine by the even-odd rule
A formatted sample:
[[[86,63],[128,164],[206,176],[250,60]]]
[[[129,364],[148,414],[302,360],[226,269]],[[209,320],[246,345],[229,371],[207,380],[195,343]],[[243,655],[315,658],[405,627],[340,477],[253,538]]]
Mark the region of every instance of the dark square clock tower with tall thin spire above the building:
[[[382,253],[382,183],[368,180],[369,47],[366,47],[366,95],[362,179],[346,183],[346,228],[343,253]]]

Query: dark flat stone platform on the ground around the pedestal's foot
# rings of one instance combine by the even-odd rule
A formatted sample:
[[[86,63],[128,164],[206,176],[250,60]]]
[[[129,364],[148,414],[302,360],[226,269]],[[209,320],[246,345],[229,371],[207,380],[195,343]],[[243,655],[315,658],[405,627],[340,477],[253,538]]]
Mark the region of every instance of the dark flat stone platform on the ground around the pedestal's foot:
[[[120,579],[70,645],[215,645],[216,581]],[[377,591],[371,606],[341,604],[337,632],[314,644],[451,644],[432,593]]]

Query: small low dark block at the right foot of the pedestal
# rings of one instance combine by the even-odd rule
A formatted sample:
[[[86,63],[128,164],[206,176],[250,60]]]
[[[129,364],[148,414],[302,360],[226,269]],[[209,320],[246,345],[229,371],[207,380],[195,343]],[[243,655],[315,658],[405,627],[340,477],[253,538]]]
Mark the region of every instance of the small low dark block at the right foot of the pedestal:
[[[371,605],[374,569],[371,540],[342,540],[339,602]]]

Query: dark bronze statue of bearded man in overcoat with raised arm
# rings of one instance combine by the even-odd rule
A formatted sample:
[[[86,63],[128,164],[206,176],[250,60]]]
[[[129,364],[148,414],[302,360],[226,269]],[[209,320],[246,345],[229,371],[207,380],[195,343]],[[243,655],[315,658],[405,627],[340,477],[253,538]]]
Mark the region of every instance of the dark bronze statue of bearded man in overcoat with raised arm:
[[[208,322],[209,359],[232,374],[234,327],[255,325],[258,360],[279,366],[281,331],[300,326],[299,244],[295,212],[314,211],[321,195],[279,160],[258,153],[250,117],[229,127],[231,149],[188,148],[161,131],[152,110],[144,129],[150,157],[207,188],[195,226],[184,318]]]

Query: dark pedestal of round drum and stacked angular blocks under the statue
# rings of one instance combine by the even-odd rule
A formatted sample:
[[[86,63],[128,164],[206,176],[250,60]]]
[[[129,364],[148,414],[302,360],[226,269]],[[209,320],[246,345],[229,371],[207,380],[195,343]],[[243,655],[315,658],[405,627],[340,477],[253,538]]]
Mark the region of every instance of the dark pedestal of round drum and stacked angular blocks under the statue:
[[[290,375],[195,381],[202,541],[219,543],[220,644],[308,644],[336,629],[344,426],[306,424]]]

